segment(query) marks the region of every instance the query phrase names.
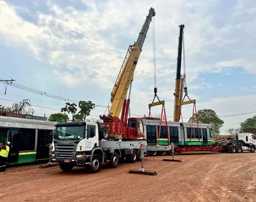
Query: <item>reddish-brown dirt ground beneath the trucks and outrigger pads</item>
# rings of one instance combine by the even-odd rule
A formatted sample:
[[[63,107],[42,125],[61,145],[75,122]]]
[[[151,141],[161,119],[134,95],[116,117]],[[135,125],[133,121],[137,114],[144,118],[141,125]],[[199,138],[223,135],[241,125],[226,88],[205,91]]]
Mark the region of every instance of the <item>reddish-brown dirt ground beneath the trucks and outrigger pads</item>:
[[[0,174],[7,191],[2,201],[256,201],[256,154],[178,154],[146,157],[156,176],[129,174],[141,163],[120,164],[89,174],[85,168],[62,172],[59,166],[8,168]],[[4,182],[4,183],[3,183]]]

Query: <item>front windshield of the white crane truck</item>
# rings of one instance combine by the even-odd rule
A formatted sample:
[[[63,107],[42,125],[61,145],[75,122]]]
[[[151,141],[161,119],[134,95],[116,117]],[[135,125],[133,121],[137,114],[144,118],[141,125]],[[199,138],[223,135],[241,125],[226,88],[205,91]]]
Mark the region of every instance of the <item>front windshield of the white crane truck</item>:
[[[84,139],[85,126],[57,127],[55,139]]]

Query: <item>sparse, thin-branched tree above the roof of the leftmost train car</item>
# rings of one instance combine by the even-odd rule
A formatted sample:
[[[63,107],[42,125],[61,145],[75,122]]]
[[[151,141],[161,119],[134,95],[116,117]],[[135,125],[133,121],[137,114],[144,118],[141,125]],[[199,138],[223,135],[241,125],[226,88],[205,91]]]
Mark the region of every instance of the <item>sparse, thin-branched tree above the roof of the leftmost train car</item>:
[[[2,106],[1,110],[18,114],[34,114],[34,110],[31,106],[31,101],[29,99],[24,99],[20,101],[20,103],[14,103],[12,106]]]

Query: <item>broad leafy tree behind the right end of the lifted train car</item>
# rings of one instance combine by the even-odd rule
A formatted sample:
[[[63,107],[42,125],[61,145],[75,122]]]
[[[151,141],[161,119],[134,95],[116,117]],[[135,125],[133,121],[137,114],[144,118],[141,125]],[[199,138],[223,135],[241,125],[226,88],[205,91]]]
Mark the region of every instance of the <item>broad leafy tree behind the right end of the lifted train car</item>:
[[[214,110],[211,109],[203,109],[203,110],[198,110],[197,114],[194,114],[193,117],[193,123],[196,122],[198,117],[198,122],[199,123],[207,123],[214,125],[214,132],[216,135],[220,134],[220,128],[224,124],[224,121],[222,121],[216,114]],[[191,122],[192,117],[190,117],[189,122]]]

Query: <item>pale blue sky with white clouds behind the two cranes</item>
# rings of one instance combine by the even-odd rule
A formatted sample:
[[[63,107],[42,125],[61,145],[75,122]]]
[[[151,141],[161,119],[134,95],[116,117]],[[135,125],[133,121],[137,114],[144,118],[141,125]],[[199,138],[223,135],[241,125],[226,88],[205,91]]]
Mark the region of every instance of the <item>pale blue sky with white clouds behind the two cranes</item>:
[[[129,44],[150,7],[156,11],[158,96],[173,119],[179,25],[185,24],[188,95],[197,110],[224,121],[220,134],[256,114],[256,1],[0,1],[0,104],[30,99],[34,114],[49,117],[65,102],[91,100],[88,119],[106,114]],[[25,88],[25,89],[24,89]],[[135,69],[131,116],[148,114],[154,98],[152,23]],[[183,106],[188,121],[193,106]],[[152,108],[152,114],[161,106]]]

